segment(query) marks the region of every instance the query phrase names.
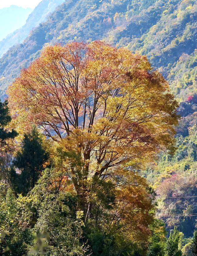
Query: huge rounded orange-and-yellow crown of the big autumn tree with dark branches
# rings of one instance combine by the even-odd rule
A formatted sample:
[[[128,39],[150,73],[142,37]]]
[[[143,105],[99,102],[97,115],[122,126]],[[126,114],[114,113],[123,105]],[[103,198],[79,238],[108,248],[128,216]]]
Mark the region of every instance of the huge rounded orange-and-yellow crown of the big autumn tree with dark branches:
[[[36,124],[58,143],[79,198],[90,179],[174,149],[177,102],[147,58],[126,48],[101,41],[48,46],[8,95],[19,133]]]

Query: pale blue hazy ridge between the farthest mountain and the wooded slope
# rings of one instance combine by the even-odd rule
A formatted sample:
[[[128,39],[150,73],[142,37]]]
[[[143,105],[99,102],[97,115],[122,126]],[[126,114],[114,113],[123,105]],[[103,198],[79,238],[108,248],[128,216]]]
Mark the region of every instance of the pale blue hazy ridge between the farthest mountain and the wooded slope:
[[[20,36],[20,42],[23,42],[23,40],[29,35],[29,32],[32,30],[32,28],[38,26],[41,22],[43,22],[46,19],[47,15],[53,12],[55,8],[64,1],[65,0],[41,1],[38,4],[38,6],[33,10],[33,12],[29,15],[26,23],[23,22],[23,24],[16,27],[15,28],[17,29],[16,31],[14,31],[15,29],[12,30],[14,31],[13,33],[11,33],[12,31],[10,31],[9,33],[11,34],[6,36],[6,38],[0,42],[0,56],[2,56],[2,54],[5,53],[11,46],[18,44],[19,36]],[[13,17],[15,16],[13,15]],[[0,21],[0,24],[4,24],[4,22]],[[21,27],[22,25],[24,26]]]

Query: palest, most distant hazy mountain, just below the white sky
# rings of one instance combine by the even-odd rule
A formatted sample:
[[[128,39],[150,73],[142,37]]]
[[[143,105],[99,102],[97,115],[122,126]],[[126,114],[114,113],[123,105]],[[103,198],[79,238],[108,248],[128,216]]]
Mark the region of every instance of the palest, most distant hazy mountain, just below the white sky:
[[[0,29],[0,40],[22,27],[31,12],[31,8],[25,9],[16,5],[0,9],[0,24],[3,24]]]

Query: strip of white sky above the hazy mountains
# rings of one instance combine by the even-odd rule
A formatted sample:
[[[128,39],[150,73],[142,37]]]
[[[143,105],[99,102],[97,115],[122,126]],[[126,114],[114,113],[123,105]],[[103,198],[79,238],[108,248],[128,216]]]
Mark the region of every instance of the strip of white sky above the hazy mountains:
[[[24,8],[35,8],[41,0],[0,0],[0,9],[10,5],[18,5]]]

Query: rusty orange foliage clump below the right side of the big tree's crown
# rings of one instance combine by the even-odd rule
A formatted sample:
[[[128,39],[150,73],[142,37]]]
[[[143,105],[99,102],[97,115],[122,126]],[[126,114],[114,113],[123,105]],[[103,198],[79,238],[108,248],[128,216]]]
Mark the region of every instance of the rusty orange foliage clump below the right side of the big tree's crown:
[[[118,172],[124,175],[124,182],[116,190],[116,208],[112,211],[114,232],[124,233],[126,240],[147,241],[148,226],[153,220],[154,210],[146,180],[133,172]]]

